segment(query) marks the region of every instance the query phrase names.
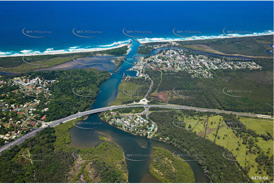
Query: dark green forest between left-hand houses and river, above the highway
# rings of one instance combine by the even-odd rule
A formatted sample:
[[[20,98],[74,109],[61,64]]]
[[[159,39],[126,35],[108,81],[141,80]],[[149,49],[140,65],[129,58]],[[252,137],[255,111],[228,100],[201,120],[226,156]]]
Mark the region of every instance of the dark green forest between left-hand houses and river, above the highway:
[[[50,102],[47,105],[40,103],[41,105],[38,106],[38,109],[47,107],[45,121],[53,121],[90,109],[91,103],[96,99],[99,92],[99,85],[110,77],[110,74],[107,71],[87,68],[85,70],[45,71],[38,73],[38,76],[43,79],[59,81],[50,87],[53,95]],[[82,96],[74,94],[73,88],[76,94]],[[81,90],[82,92],[80,92]]]

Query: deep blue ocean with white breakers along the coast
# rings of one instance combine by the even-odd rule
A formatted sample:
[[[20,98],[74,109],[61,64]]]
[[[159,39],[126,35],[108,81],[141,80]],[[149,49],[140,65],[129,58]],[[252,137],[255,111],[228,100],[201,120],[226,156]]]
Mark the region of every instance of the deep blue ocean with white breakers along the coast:
[[[0,1],[0,12],[0,56],[111,48],[134,39],[124,28],[141,42],[273,32],[273,1]]]

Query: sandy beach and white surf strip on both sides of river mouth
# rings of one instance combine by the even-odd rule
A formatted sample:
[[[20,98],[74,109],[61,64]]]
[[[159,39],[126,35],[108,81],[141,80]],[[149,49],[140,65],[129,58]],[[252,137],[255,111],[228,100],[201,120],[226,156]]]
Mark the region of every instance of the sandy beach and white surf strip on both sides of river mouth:
[[[153,42],[171,42],[171,41],[189,41],[189,40],[211,40],[211,39],[222,39],[222,38],[242,38],[242,37],[250,37],[250,36],[264,36],[264,35],[274,35],[274,32],[269,32],[269,33],[263,33],[260,35],[242,35],[242,36],[212,36],[214,38],[208,38],[210,36],[200,36],[200,37],[193,37],[197,39],[182,39],[182,38],[150,38],[150,39],[156,39],[156,40],[150,40],[150,41],[144,41],[142,39],[139,39],[138,41],[140,44],[143,45],[143,43],[153,43]],[[207,37],[207,38],[202,38],[202,37]],[[143,38],[143,39],[149,39],[149,38]],[[158,40],[158,39],[163,39],[163,40]],[[167,39],[167,40],[164,40]],[[128,41],[128,40],[126,40]],[[94,51],[103,51],[103,50],[109,50],[109,49],[116,49],[120,48],[123,46],[129,46],[132,41],[129,40],[129,43],[121,43],[118,46],[113,46],[110,48],[92,48],[92,49],[82,49],[78,51],[62,51],[62,52],[51,52],[51,53],[42,53],[42,54],[13,54],[13,55],[0,55],[0,57],[17,57],[17,56],[39,56],[39,55],[54,55],[54,54],[71,54],[71,53],[79,53],[79,52],[94,52]]]

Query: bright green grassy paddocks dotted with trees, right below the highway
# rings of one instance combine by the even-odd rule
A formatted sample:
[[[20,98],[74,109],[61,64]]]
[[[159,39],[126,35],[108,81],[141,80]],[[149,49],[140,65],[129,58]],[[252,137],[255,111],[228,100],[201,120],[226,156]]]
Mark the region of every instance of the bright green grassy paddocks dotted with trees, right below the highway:
[[[203,118],[206,119],[205,116]],[[211,121],[213,121],[213,124],[211,124]],[[245,167],[245,164],[246,164],[246,166],[250,168],[248,172],[250,178],[252,176],[262,176],[262,177],[268,176],[268,178],[270,178],[270,176],[267,175],[266,171],[264,171],[263,169],[262,169],[262,174],[256,173],[258,163],[255,161],[255,159],[257,158],[258,154],[257,153],[246,154],[246,151],[248,151],[249,149],[247,148],[247,145],[242,144],[243,138],[236,136],[235,133],[233,132],[233,129],[225,127],[222,121],[223,121],[222,116],[209,117],[206,138],[212,142],[214,141],[215,135],[217,132],[217,126],[220,122],[220,127],[217,132],[215,144],[224,146],[225,148],[230,150],[233,154],[237,155],[236,160],[245,160],[245,157],[243,158],[242,155],[248,155],[246,157],[246,162],[239,161],[239,164],[242,167]],[[250,117],[245,117],[245,116],[239,116],[239,121],[243,123],[248,122],[245,124],[245,126],[250,128],[251,130],[255,130],[257,134],[266,134],[266,132],[270,132],[271,135],[273,135],[273,121],[266,120],[265,118],[251,119]],[[196,132],[198,135],[204,136],[205,127],[203,124],[199,123],[198,125],[195,126],[195,128],[192,131]],[[262,151],[264,151],[267,156],[271,157],[273,155],[273,145],[274,145],[273,140],[265,141],[263,140],[262,137],[256,137],[256,139],[258,140],[256,144],[258,144],[261,147]],[[269,153],[267,154],[268,150],[269,150]],[[255,183],[263,182],[263,180],[253,180],[253,181]]]

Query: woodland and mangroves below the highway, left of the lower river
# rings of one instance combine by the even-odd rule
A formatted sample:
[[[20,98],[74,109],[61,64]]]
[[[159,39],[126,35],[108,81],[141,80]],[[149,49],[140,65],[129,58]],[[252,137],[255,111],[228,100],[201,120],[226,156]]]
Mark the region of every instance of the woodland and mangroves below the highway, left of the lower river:
[[[69,147],[66,144],[71,141],[68,133],[71,127],[73,124],[68,121],[54,128],[44,128],[21,145],[2,152],[0,182],[68,183],[69,171],[75,164],[73,152],[77,152],[82,159],[93,160],[90,164],[82,161],[82,167],[95,169],[98,183],[127,183],[127,169],[122,148],[115,142],[102,142],[90,149]],[[23,153],[24,157],[31,160],[22,157]],[[78,181],[78,177],[83,172],[84,170],[80,170],[72,176],[74,182]],[[92,181],[88,176],[86,180]]]

